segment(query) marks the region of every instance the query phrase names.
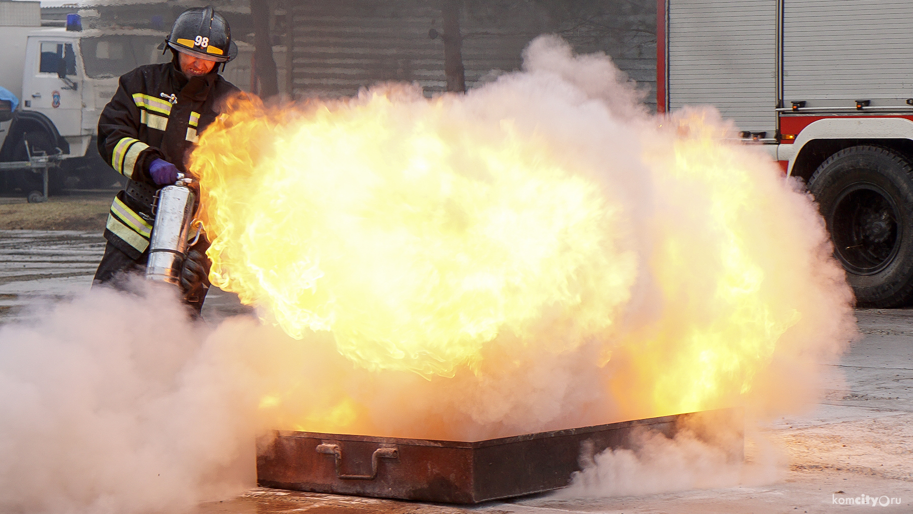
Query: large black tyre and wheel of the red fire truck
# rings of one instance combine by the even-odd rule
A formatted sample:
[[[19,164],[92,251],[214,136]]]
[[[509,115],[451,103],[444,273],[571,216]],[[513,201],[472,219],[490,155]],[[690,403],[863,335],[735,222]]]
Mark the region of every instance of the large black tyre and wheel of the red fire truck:
[[[853,146],[815,170],[809,191],[860,307],[913,299],[913,166],[891,149]]]

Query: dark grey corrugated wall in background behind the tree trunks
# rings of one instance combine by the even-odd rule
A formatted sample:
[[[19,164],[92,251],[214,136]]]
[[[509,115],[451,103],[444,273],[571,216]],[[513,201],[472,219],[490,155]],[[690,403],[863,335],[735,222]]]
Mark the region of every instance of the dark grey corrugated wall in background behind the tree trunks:
[[[274,0],[279,89],[295,96],[337,97],[377,81],[415,80],[426,94],[443,91],[444,43],[428,37],[432,27],[443,31],[440,2]],[[187,0],[103,5],[97,7],[101,17],[91,24],[167,31],[189,5]],[[493,70],[519,69],[530,40],[557,31],[578,53],[604,51],[612,56],[647,91],[645,101],[655,108],[656,0],[467,0],[465,5],[471,11],[460,17],[467,87],[476,87]],[[236,40],[251,45],[227,69],[238,85],[252,88],[248,3],[220,2],[216,8],[229,19]],[[558,19],[556,12],[587,16]]]

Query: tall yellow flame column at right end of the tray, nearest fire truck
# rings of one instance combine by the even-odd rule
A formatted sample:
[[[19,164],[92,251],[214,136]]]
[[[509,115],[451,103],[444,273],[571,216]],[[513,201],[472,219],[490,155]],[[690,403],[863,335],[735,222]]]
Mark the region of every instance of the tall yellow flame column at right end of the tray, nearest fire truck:
[[[702,116],[680,120],[679,130],[687,133],[670,142],[672,160],[654,162],[671,183],[661,201],[700,219],[659,218],[654,226],[659,247],[650,267],[663,316],[619,344],[616,355],[626,353],[632,365],[612,378],[615,398],[632,416],[721,407],[750,393],[755,374],[802,317],[802,297],[790,295],[808,294],[799,263],[790,262],[796,249],[771,247],[790,244],[783,228],[803,223],[771,219],[789,208],[782,184],[764,166],[751,169],[743,149],[723,142]],[[647,393],[631,393],[638,390]]]

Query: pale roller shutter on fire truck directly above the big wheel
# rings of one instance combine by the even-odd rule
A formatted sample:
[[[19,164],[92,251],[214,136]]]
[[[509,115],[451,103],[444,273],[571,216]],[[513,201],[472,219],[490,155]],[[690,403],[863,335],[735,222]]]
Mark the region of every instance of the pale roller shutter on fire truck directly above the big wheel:
[[[911,20],[910,0],[786,1],[784,104],[905,105],[913,98]]]

